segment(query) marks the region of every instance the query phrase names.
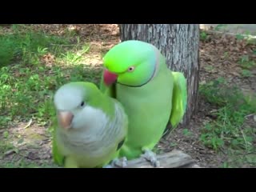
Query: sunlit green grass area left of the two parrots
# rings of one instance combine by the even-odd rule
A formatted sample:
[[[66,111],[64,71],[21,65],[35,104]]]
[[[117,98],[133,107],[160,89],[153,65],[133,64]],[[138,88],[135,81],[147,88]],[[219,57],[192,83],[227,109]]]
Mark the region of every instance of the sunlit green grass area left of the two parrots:
[[[85,65],[89,43],[71,44],[59,37],[14,25],[14,33],[0,36],[0,129],[31,118],[40,126],[54,115],[53,95],[66,82],[99,82],[100,70]],[[8,51],[6,51],[8,50]],[[42,61],[53,56],[50,66]]]

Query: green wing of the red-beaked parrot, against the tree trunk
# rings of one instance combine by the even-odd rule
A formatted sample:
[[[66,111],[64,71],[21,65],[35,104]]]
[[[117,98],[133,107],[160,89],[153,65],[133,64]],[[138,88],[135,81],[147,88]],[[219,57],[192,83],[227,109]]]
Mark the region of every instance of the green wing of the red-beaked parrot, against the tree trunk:
[[[174,90],[170,123],[173,127],[175,127],[180,121],[182,121],[182,118],[186,112],[186,78],[180,72],[171,71],[170,73],[172,73],[172,75],[174,76]]]

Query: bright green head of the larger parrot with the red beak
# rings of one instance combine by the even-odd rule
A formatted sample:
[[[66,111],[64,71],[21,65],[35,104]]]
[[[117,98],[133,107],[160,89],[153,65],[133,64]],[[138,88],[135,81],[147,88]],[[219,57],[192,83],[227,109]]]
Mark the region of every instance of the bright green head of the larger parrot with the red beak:
[[[130,40],[110,49],[103,58],[106,86],[118,82],[126,86],[142,86],[154,78],[159,51],[150,43]]]

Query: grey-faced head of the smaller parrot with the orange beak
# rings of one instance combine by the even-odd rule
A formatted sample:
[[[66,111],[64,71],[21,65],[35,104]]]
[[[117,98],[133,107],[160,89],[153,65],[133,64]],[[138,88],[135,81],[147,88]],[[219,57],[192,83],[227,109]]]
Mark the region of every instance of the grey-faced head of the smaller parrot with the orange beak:
[[[102,93],[90,82],[70,82],[54,94],[58,126],[63,130],[81,129],[90,123]]]

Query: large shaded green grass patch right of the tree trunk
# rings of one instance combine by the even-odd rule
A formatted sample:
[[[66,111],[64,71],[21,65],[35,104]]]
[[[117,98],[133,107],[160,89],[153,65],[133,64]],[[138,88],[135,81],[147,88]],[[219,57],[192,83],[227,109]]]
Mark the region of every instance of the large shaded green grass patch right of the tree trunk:
[[[229,86],[224,78],[200,86],[199,93],[217,109],[212,113],[216,119],[202,128],[200,141],[216,151],[255,153],[256,130],[246,124],[246,115],[256,113],[256,98]]]

